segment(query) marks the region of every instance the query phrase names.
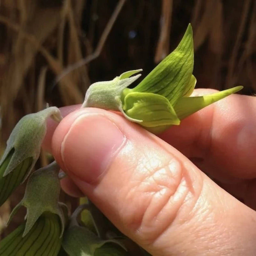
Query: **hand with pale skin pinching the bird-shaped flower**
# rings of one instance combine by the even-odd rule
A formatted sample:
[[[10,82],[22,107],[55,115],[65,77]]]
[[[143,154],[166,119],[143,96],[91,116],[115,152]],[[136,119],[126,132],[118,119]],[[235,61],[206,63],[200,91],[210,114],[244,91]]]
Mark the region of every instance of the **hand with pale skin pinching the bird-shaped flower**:
[[[152,255],[255,254],[256,98],[231,95],[158,136],[79,108],[49,121],[44,141],[64,191],[87,195]]]

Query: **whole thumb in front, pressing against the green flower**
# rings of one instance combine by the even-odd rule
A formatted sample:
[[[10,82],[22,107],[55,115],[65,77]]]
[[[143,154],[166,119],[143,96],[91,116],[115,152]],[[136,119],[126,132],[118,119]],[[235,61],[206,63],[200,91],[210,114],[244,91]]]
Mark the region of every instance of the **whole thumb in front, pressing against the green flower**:
[[[113,224],[153,255],[253,255],[256,214],[184,155],[116,113],[65,117],[53,154]]]

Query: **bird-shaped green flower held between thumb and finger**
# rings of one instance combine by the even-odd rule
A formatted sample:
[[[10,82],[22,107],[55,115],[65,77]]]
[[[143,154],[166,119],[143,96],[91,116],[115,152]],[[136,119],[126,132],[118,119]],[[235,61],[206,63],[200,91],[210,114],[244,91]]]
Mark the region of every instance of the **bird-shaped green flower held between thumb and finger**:
[[[189,24],[177,48],[135,88],[127,87],[140,76],[131,75],[141,70],[92,84],[86,92],[83,107],[119,110],[130,121],[158,133],[171,125],[179,125],[185,117],[243,88],[236,86],[210,95],[189,97],[196,84],[193,65],[193,31]]]

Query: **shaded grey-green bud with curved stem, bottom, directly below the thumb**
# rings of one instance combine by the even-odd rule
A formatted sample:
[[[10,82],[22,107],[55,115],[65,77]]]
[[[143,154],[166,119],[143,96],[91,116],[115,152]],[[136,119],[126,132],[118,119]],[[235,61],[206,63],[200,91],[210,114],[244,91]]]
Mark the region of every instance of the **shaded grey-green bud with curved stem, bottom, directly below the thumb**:
[[[80,226],[77,222],[77,217],[84,210],[84,205],[80,205],[72,214],[70,219],[70,224],[68,228],[65,230],[63,240],[62,240],[62,247],[65,252],[69,256],[76,256],[76,255],[115,255],[115,254],[99,254],[97,249],[101,248],[106,244],[114,244],[125,250],[124,246],[115,239],[108,239],[102,240],[97,235],[95,235],[91,230],[84,226]],[[113,252],[115,253],[115,247],[113,248]],[[106,248],[107,252],[110,252],[109,247]],[[125,255],[125,254],[119,254]]]

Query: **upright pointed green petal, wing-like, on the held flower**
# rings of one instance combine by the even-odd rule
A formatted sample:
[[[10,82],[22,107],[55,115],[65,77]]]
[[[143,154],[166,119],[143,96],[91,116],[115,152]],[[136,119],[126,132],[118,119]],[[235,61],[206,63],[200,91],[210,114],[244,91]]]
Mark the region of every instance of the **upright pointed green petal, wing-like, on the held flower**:
[[[193,31],[189,24],[180,44],[132,91],[157,93],[171,105],[182,97],[190,82],[194,66]]]

